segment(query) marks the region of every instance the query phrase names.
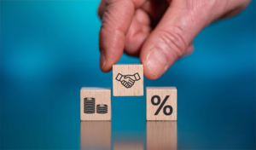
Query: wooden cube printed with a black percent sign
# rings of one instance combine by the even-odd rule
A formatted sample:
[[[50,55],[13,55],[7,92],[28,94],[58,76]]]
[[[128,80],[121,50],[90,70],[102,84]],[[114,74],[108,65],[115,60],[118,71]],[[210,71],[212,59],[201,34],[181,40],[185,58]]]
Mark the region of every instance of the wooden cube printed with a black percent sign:
[[[147,87],[147,120],[177,120],[177,89]]]

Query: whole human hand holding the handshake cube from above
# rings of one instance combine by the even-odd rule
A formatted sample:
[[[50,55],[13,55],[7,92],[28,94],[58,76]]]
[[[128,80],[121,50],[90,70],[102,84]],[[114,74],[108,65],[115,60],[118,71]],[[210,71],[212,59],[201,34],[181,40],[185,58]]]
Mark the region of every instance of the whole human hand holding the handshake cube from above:
[[[250,0],[102,0],[98,14],[100,66],[109,72],[124,52],[139,56],[144,75],[155,79],[215,20],[238,14]]]

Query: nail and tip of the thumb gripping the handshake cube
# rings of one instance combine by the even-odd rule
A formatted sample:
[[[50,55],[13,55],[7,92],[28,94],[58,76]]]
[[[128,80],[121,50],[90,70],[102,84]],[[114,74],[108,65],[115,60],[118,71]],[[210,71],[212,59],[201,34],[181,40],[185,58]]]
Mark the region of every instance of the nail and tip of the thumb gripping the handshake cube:
[[[168,69],[166,56],[160,49],[153,48],[149,50],[147,55],[147,68],[148,71],[158,78],[163,72]]]

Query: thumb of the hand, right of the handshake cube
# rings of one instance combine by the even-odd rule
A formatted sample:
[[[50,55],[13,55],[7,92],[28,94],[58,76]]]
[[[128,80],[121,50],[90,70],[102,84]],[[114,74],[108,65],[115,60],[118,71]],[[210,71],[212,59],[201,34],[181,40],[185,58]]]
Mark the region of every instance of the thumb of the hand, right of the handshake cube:
[[[206,4],[202,2],[172,1],[158,26],[143,44],[140,59],[147,78],[160,78],[174,61],[193,51],[195,36],[215,19],[215,16],[209,15],[214,4],[211,1]]]

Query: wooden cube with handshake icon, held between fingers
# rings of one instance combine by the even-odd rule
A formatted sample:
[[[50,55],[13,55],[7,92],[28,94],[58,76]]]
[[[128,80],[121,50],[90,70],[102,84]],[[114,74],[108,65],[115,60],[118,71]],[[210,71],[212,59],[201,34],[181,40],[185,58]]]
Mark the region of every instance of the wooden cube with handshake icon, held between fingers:
[[[143,65],[113,65],[113,95],[143,95]]]

